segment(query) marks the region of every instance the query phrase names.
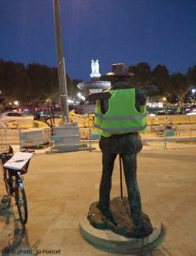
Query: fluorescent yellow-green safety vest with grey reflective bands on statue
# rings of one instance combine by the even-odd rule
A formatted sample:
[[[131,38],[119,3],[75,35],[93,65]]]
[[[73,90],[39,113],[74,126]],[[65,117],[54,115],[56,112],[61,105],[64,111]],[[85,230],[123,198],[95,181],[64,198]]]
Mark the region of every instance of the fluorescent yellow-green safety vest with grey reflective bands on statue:
[[[141,112],[135,109],[135,89],[108,90],[109,99],[107,113],[101,113],[101,102],[95,107],[94,133],[104,137],[113,134],[142,131],[146,128],[146,105]]]

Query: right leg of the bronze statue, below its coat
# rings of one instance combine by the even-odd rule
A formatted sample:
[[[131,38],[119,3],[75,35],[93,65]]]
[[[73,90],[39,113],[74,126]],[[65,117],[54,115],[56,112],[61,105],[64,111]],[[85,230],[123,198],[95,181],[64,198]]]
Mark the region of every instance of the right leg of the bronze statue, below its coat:
[[[130,212],[136,230],[141,228],[141,195],[136,180],[136,154],[121,155],[124,166],[124,177],[127,186],[128,199],[130,202]]]

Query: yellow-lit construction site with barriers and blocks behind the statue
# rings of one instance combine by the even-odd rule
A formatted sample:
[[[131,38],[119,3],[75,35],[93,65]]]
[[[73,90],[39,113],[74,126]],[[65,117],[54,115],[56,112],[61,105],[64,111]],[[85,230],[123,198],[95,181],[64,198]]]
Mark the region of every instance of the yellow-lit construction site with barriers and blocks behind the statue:
[[[78,126],[79,136],[76,143],[81,147],[89,148],[92,143],[99,140],[93,129],[94,114],[77,114],[74,111],[69,114],[71,122]],[[28,124],[22,120],[9,121],[9,129],[0,130],[1,147],[11,145],[18,150],[22,148],[51,150],[56,143],[52,137],[53,130],[60,124],[61,118],[55,118],[52,127],[49,123],[40,120],[33,120]],[[171,143],[195,143],[196,115],[147,116],[147,129],[141,133],[141,138],[144,143],[152,145],[162,143],[163,148],[170,146]]]

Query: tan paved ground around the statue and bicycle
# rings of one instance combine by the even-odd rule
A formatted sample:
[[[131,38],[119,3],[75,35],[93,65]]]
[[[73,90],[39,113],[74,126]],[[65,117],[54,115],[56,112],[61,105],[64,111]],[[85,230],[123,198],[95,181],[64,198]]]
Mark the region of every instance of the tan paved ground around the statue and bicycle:
[[[153,224],[164,224],[164,235],[155,247],[128,255],[196,255],[195,152],[195,145],[169,149],[145,145],[138,154],[137,179],[142,208]],[[98,148],[92,152],[59,154],[37,151],[24,178],[29,212],[26,229],[22,229],[18,220],[14,201],[8,211],[0,205],[1,251],[3,248],[15,250],[10,251],[10,255],[116,255],[93,247],[79,231],[80,218],[84,218],[90,203],[98,199],[101,178]],[[0,188],[2,197],[5,193],[2,176]],[[116,160],[111,196],[119,194]]]

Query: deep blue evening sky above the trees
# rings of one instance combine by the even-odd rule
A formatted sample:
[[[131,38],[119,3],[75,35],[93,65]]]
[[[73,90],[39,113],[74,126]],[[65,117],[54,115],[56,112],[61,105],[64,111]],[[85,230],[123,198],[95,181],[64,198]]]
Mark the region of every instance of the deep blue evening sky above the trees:
[[[196,64],[195,0],[60,0],[66,73],[88,81],[91,59],[161,64],[186,73]],[[0,59],[57,67],[52,0],[0,0]]]

